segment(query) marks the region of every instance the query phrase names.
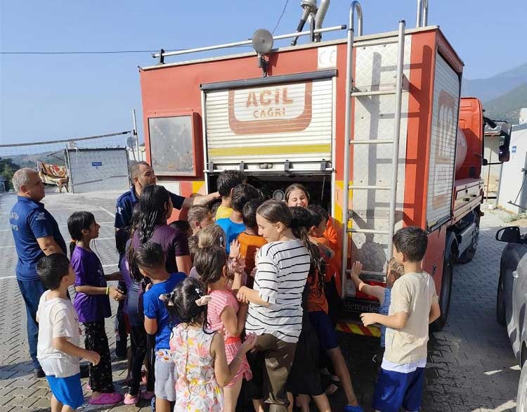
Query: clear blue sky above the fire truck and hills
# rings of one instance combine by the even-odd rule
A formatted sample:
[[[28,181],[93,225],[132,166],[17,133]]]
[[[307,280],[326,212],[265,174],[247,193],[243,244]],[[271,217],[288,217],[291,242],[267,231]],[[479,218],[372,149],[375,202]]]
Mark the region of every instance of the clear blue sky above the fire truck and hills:
[[[346,24],[349,3],[333,0],[324,25]],[[464,60],[464,77],[489,77],[526,62],[526,0],[429,3],[429,24],[441,26]],[[299,4],[289,0],[275,34],[294,32]],[[365,34],[396,30],[400,19],[415,26],[415,0],[362,4]],[[273,30],[284,5],[285,0],[0,0],[0,51],[143,51],[238,41],[257,28]],[[150,53],[1,54],[0,143],[131,129],[131,108],[141,120],[137,66],[153,63]]]

